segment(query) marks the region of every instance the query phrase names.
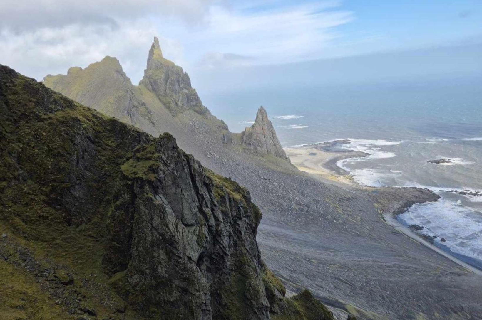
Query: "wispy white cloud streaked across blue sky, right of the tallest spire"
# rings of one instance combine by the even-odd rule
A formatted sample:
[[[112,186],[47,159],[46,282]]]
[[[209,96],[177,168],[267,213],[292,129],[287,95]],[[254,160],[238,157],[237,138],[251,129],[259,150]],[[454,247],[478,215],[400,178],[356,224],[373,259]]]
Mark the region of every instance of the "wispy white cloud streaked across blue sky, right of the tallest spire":
[[[328,10],[334,7],[333,3],[302,3],[258,10],[211,6],[204,16],[206,27],[195,31],[192,38],[194,43],[202,39],[214,52],[211,56],[232,52],[251,57],[251,64],[314,59],[339,36],[334,28],[353,19],[350,12]],[[201,60],[201,64],[203,62]]]

